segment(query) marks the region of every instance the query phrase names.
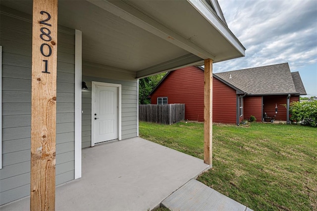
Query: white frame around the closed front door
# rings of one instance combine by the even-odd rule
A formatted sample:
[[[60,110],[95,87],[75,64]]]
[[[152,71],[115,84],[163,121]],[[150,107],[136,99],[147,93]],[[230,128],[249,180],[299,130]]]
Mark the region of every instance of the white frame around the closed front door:
[[[104,82],[91,82],[92,89],[91,89],[91,146],[95,146],[95,124],[94,124],[94,118],[95,118],[95,90],[96,86],[110,86],[110,87],[118,87],[118,140],[121,140],[121,84],[109,84]]]

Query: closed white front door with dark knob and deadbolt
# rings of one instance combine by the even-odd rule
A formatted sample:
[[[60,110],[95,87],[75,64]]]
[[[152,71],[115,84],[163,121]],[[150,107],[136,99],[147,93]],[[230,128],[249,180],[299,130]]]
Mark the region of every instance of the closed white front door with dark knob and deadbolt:
[[[119,86],[93,82],[92,146],[119,138]]]

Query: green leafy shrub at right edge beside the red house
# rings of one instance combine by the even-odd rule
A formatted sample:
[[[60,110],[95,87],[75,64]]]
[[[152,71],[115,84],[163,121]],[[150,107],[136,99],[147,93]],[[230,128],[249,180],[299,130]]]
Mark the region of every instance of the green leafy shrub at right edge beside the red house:
[[[289,113],[292,122],[317,127],[317,100],[292,102],[290,103]]]

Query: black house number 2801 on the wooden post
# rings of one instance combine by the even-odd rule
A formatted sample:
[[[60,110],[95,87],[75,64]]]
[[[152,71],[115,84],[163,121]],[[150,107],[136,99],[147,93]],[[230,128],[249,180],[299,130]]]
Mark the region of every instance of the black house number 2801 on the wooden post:
[[[47,27],[52,27],[51,24],[47,23],[47,21],[51,19],[50,13],[48,13],[46,11],[41,11],[40,13],[42,15],[46,15],[47,16],[47,18],[45,20],[40,21],[40,24],[44,24]],[[40,38],[43,41],[50,42],[50,41],[52,41],[51,30],[49,28],[47,28],[47,27],[42,27],[40,29],[40,31],[41,31]],[[52,44],[54,44],[54,42],[52,42]],[[45,50],[45,49],[47,49],[47,50]],[[40,50],[41,50],[42,55],[45,56],[45,57],[50,57],[51,54],[52,54],[52,47],[48,43],[42,43],[41,47],[40,47]],[[45,63],[45,70],[42,71],[42,73],[50,73],[50,72],[48,72],[48,62],[49,61],[48,60],[43,60],[43,62]]]

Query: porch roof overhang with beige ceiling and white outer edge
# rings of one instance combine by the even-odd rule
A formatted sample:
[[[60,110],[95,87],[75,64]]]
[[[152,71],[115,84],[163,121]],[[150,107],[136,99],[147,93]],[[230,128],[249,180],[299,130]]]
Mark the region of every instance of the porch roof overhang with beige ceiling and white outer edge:
[[[31,0],[1,0],[32,14]],[[137,78],[241,57],[245,48],[203,0],[59,0],[58,23],[83,34],[83,61]]]

